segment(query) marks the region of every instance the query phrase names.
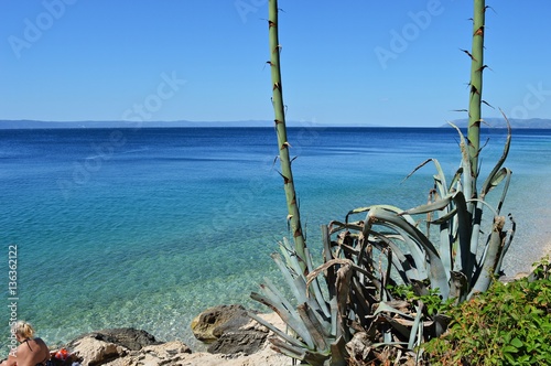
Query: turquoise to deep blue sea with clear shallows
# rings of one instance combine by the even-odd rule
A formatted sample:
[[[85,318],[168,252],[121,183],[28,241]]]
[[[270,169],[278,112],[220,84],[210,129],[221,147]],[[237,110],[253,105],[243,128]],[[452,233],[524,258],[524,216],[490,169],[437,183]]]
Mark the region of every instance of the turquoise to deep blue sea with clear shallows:
[[[483,177],[505,138],[483,131]],[[314,259],[322,224],[371,204],[422,204],[433,165],[403,179],[428,158],[449,176],[460,164],[452,128],[296,127],[289,141]],[[0,130],[0,356],[13,302],[48,343],[133,326],[193,344],[190,323],[208,306],[266,310],[249,294],[263,277],[278,282],[269,255],[288,236],[277,154],[272,128]],[[551,241],[550,158],[551,130],[514,130],[508,274]]]

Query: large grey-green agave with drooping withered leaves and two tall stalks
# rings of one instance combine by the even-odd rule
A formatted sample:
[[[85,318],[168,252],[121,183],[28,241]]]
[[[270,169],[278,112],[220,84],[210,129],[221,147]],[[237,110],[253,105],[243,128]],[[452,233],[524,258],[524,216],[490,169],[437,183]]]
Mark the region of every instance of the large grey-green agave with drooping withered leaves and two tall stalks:
[[[509,128],[504,152],[478,192],[486,6],[484,0],[474,2],[473,50],[466,52],[473,63],[467,138],[451,125],[460,137],[461,164],[450,183],[436,159],[424,161],[411,173],[431,162],[434,164],[434,185],[426,204],[410,209],[391,205],[359,207],[352,209],[344,220],[322,226],[324,263],[313,268],[300,229],[294,191],[287,190],[292,187],[288,185],[292,183],[289,155],[281,157],[282,166],[289,163],[289,171],[282,175],[295,245],[283,239],[281,254],[272,258],[294,300],[287,299],[269,279],[251,298],[277,312],[288,330],[279,330],[250,313],[278,335],[271,340],[277,351],[310,365],[364,365],[375,358],[382,362],[414,357],[412,349],[440,335],[447,325],[445,314],[428,311],[426,300],[435,295],[437,302],[457,304],[487,290],[500,273],[516,226],[511,218],[511,229],[507,232],[506,219],[500,213],[511,179],[511,171],[503,166],[511,131]],[[276,0],[270,0],[269,9],[272,52],[269,63],[274,90],[272,100],[274,108],[280,107],[276,125],[283,127],[278,129],[280,139],[285,134]],[[279,140],[279,146],[288,153],[287,138]],[[501,183],[501,195],[497,205],[491,206],[487,195]],[[483,232],[485,209],[491,212],[493,219],[490,227]],[[426,215],[424,230],[418,219],[420,215]],[[439,234],[434,240],[431,239],[433,232]],[[485,240],[480,240],[480,233],[488,233]],[[399,284],[412,289],[418,298],[406,301],[408,299],[398,297],[395,289]]]

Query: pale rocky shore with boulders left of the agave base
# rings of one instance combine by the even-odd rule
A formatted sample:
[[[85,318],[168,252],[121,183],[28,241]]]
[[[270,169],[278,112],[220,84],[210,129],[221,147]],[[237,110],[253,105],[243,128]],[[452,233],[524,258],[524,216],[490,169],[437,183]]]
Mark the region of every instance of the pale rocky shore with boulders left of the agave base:
[[[284,330],[276,314],[261,317]],[[247,316],[240,305],[210,308],[197,315],[192,324],[195,337],[207,345],[206,352],[193,352],[180,341],[158,342],[154,335],[136,329],[111,329],[78,336],[63,346],[68,357],[56,358],[55,365],[137,366],[137,365],[292,365],[292,359],[270,348],[273,336],[264,326]]]

